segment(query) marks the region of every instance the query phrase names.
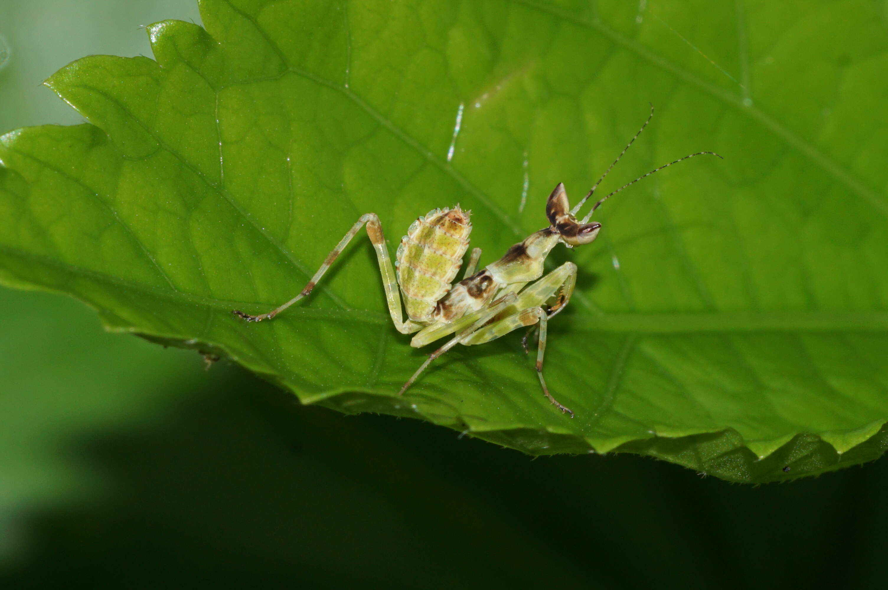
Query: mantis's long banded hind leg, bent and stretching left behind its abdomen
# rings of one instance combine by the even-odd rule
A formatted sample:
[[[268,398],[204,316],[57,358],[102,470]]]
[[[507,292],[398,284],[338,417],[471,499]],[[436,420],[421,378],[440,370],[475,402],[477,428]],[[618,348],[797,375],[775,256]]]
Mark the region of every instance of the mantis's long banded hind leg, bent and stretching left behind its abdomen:
[[[286,310],[293,303],[308,296],[308,294],[312,292],[312,289],[318,284],[318,281],[321,280],[321,277],[324,276],[324,273],[329,270],[329,267],[337,259],[343,249],[348,246],[348,243],[352,241],[353,237],[361,230],[361,227],[364,224],[367,224],[367,235],[370,238],[370,242],[373,244],[373,248],[377,251],[379,273],[382,275],[383,287],[385,287],[385,299],[388,302],[389,313],[392,315],[392,323],[401,334],[411,334],[419,330],[423,327],[422,324],[417,324],[409,319],[406,321],[403,319],[400,307],[400,292],[398,290],[397,279],[395,279],[394,268],[392,267],[392,258],[389,256],[388,248],[385,246],[383,227],[382,224],[379,223],[379,217],[376,213],[368,213],[362,215],[361,218],[358,219],[358,221],[352,226],[352,229],[345,233],[343,239],[339,240],[336,248],[333,248],[329,255],[327,255],[327,258],[324,259],[323,264],[321,264],[321,268],[314,273],[312,279],[308,281],[305,287],[303,287],[302,291],[299,292],[299,295],[296,295],[280,307],[258,316],[251,316],[250,314],[238,310],[234,310],[233,313],[243,319],[254,322],[262,321],[263,319],[272,319],[274,316],[281,313],[281,311]]]

